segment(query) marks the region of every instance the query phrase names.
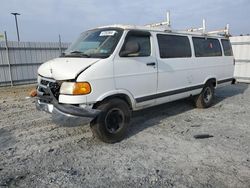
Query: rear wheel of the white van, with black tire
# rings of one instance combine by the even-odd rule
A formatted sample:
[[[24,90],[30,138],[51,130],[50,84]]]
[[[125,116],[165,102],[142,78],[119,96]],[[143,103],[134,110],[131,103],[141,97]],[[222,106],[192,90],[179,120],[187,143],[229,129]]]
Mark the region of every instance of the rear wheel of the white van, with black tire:
[[[214,98],[213,83],[207,83],[201,93],[195,97],[195,106],[197,108],[208,108],[212,105]]]

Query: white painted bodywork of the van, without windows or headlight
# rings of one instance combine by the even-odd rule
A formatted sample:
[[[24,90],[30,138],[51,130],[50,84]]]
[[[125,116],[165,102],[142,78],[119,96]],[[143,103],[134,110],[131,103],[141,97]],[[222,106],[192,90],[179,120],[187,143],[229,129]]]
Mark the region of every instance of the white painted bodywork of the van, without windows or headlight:
[[[160,58],[156,34],[165,33],[160,31],[150,31],[150,56],[120,57],[119,52],[128,32],[124,29],[116,49],[106,59],[57,58],[39,68],[38,73],[43,77],[90,83],[91,93],[60,95],[60,103],[92,105],[107,97],[123,94],[129,98],[132,109],[138,110],[199,94],[208,79],[219,83],[233,77],[233,57],[224,54],[219,57],[195,57],[190,34],[181,33],[189,37],[192,57]],[[156,65],[147,66],[151,62]],[[185,91],[185,88],[192,89]]]

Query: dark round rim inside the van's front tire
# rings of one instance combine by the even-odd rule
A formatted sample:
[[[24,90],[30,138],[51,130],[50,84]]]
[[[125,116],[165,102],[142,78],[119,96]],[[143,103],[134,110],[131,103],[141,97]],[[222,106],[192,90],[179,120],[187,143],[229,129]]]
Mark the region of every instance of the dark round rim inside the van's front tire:
[[[124,114],[119,108],[111,109],[105,118],[106,129],[110,133],[116,133],[124,124]]]

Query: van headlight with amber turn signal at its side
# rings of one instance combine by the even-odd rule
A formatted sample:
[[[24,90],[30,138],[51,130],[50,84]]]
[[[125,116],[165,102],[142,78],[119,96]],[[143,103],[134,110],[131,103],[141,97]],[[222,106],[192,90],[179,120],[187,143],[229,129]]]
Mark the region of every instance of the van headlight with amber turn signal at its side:
[[[91,86],[88,82],[63,82],[60,88],[60,94],[86,95],[90,92]]]

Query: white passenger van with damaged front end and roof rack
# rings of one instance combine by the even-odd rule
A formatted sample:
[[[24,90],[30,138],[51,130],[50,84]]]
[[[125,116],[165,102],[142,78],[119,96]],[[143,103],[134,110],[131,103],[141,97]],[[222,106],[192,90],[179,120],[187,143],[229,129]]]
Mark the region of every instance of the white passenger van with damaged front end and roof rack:
[[[90,122],[104,142],[124,138],[131,112],[193,96],[211,106],[234,82],[227,37],[157,27],[113,25],[86,31],[38,69],[37,108],[55,122]]]

